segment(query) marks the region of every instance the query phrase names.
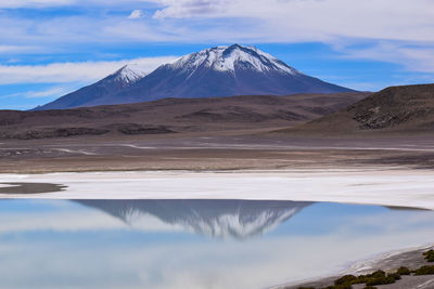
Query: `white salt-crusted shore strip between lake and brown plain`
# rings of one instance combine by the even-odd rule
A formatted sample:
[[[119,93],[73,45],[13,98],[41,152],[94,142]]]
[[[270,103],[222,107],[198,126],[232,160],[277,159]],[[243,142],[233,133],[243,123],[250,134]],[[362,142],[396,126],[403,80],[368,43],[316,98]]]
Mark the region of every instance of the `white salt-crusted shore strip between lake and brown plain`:
[[[44,183],[65,187],[41,194],[11,192],[0,194],[0,198],[276,199],[434,210],[434,171],[394,167],[0,174],[0,184],[8,183]]]

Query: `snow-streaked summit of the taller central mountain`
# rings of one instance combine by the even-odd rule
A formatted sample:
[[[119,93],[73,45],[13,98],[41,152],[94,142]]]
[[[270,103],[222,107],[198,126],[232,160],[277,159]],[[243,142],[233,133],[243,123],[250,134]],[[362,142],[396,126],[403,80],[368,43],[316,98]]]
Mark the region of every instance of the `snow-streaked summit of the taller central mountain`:
[[[279,74],[301,75],[293,67],[284,64],[268,53],[255,47],[232,44],[229,47],[215,47],[200,52],[188,54],[171,65],[178,69],[187,70],[207,67],[217,71],[234,74],[238,69],[254,70],[258,73],[276,71]]]

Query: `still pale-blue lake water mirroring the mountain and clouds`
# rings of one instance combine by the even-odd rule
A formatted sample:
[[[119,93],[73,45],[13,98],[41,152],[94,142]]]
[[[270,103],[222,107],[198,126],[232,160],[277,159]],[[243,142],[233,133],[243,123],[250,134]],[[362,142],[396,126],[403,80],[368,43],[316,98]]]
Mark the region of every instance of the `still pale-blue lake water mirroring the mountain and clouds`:
[[[0,200],[1,288],[268,288],[434,240],[434,212],[252,200]]]

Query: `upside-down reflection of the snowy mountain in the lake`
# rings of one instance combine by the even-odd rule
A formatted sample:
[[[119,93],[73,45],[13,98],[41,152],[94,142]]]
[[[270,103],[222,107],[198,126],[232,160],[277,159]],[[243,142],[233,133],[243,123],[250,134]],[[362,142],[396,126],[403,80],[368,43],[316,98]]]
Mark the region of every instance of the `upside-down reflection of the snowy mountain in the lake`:
[[[157,218],[174,228],[213,238],[245,239],[277,227],[311,202],[252,200],[77,200],[146,227]]]

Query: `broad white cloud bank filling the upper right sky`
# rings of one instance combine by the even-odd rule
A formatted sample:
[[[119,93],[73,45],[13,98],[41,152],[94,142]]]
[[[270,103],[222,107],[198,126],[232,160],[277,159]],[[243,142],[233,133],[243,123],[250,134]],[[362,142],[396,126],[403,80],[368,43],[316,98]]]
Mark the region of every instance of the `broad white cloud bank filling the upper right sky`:
[[[309,42],[336,47],[352,58],[403,65],[411,71],[434,73],[434,1],[420,0],[155,0],[162,22],[215,22],[206,30],[186,32],[221,42]],[[238,29],[218,19],[237,19]],[[233,26],[233,23],[231,23]],[[216,27],[218,27],[216,29]],[[183,27],[186,29],[186,27]],[[189,28],[187,28],[189,29]],[[178,31],[178,30],[174,30]],[[241,39],[241,40],[237,40]],[[354,43],[376,42],[353,49]],[[399,44],[397,44],[399,43]],[[339,47],[341,45],[341,47]]]

